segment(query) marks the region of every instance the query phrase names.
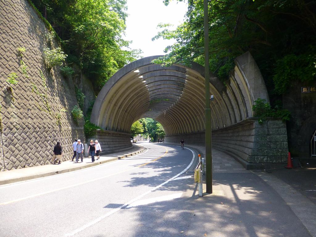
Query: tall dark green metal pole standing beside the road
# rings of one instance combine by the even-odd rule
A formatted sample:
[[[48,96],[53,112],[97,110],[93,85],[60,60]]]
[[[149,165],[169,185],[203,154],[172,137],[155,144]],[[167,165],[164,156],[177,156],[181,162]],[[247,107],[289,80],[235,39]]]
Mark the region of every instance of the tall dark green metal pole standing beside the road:
[[[212,193],[212,127],[210,109],[210,75],[209,75],[209,14],[208,0],[204,0],[204,56],[205,56],[205,161],[206,192]]]

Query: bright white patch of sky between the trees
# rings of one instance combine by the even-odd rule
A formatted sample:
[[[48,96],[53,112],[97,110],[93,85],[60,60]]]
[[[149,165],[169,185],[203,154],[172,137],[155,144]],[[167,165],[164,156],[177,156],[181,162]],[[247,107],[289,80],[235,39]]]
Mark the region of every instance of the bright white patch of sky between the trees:
[[[164,55],[163,50],[175,40],[151,41],[151,38],[161,30],[157,29],[159,23],[171,23],[175,28],[183,22],[187,3],[173,0],[165,6],[163,0],[127,0],[127,6],[129,16],[124,39],[133,41],[131,49],[141,49],[143,57]]]

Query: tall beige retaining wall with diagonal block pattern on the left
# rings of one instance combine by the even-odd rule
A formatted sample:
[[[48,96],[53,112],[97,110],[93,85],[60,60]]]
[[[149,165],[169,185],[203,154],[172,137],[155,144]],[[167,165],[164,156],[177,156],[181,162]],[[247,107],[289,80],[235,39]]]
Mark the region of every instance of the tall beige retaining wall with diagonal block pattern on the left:
[[[0,170],[49,164],[57,141],[69,160],[74,139],[84,140],[83,120],[77,125],[71,116],[74,83],[45,65],[43,48],[58,45],[27,1],[0,1],[0,9]],[[17,84],[7,82],[10,73]]]

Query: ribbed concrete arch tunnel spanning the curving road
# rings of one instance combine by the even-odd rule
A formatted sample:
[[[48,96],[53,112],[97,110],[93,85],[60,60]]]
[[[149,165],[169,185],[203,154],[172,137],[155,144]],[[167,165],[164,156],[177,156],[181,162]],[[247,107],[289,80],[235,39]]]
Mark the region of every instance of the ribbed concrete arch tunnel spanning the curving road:
[[[184,138],[187,143],[204,143],[204,67],[196,63],[191,67],[152,64],[158,57],[142,58],[126,65],[101,89],[90,121],[103,129],[97,132],[96,138],[107,144],[105,150],[130,147],[131,125],[141,118],[160,122],[166,132],[165,141],[178,143]],[[236,58],[235,64],[226,85],[210,75],[210,94],[214,95],[211,101],[213,145],[249,162],[251,144],[246,144],[246,151],[232,146],[234,141],[227,138],[224,141],[221,136],[227,132],[238,134],[240,126],[250,125],[255,129],[252,105],[257,98],[269,101],[269,97],[249,52]]]

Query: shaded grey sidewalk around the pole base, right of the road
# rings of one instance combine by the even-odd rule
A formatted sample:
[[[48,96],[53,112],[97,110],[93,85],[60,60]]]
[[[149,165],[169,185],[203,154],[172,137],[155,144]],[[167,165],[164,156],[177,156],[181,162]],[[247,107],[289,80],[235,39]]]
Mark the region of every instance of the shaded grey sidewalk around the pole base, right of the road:
[[[179,144],[174,143],[162,144],[179,146]],[[205,157],[204,146],[186,144],[185,147],[194,149],[200,153],[202,157]],[[240,229],[239,226],[241,226],[241,223],[246,221],[246,219],[242,219],[243,216],[249,216],[249,212],[251,212],[252,214],[249,216],[247,222],[251,222],[251,218],[256,219],[254,223],[261,222],[260,225],[263,225],[263,230],[268,229],[269,225],[276,225],[276,222],[279,222],[279,224],[275,226],[276,229],[279,228],[279,234],[282,234],[282,231],[287,229],[286,232],[288,232],[288,234],[291,233],[289,236],[306,236],[308,233],[307,236],[311,235],[316,237],[315,168],[296,168],[292,170],[284,168],[275,170],[273,173],[268,173],[265,170],[250,171],[246,170],[230,155],[216,149],[212,149],[212,166],[213,194],[207,195],[205,193],[206,185],[204,183],[203,192],[206,196],[203,198],[197,197],[198,200],[194,204],[196,209],[201,210],[204,217],[213,216],[213,221],[217,222],[218,220],[214,218],[214,215],[220,216],[220,212],[222,212],[221,207],[228,205],[227,214],[231,214],[227,215],[226,218],[228,222],[227,225],[231,226],[230,230],[234,229],[234,231],[237,231]],[[293,175],[295,175],[295,177],[293,177]],[[203,178],[205,179],[205,176]],[[311,189],[308,193],[309,195],[307,195],[308,190],[306,190],[308,188]],[[197,194],[198,191],[196,191],[196,196]],[[221,200],[219,201],[220,205],[218,207],[214,206],[214,208],[206,208],[210,206],[210,203],[214,203],[214,200]],[[240,206],[243,202],[244,204],[247,202],[247,205]],[[229,206],[231,206],[231,208],[229,208]],[[287,213],[288,207],[293,212],[291,216],[286,216],[285,214]],[[217,211],[214,211],[215,209],[217,209]],[[276,213],[277,211],[280,213]],[[240,214],[236,215],[236,213]],[[270,213],[274,214],[271,215]],[[257,215],[253,216],[253,214]],[[271,223],[264,223],[263,220],[259,218],[261,215],[270,215],[271,217],[266,219],[271,220]],[[237,216],[240,220],[235,223]],[[204,217],[198,220],[197,223],[204,223]],[[277,220],[277,218],[279,218],[279,220]],[[283,220],[281,221],[282,218]],[[211,219],[209,219],[209,221],[210,220]],[[298,232],[301,225],[307,229],[307,233],[303,234]],[[216,233],[216,228],[214,228],[212,221],[204,223],[204,226],[206,229],[214,229],[215,232],[213,233]],[[198,225],[195,227],[198,228]],[[257,236],[253,228],[247,227],[246,229],[250,236]],[[243,231],[246,231],[246,229]],[[228,233],[229,231],[226,234]],[[234,236],[236,236],[235,233],[236,232],[234,232]],[[276,233],[270,233],[268,236],[276,236],[275,234]],[[218,233],[218,236],[233,235],[225,235],[222,232],[221,234]]]

